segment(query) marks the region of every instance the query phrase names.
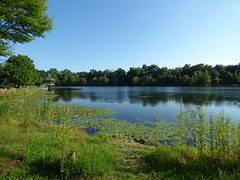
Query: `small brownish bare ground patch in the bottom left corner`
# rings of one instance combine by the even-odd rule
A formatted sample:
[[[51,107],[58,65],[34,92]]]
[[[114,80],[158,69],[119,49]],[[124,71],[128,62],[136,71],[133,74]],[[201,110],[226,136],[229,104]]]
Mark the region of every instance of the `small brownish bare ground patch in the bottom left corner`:
[[[19,167],[22,159],[5,159],[0,160],[0,176],[8,176],[12,169]]]

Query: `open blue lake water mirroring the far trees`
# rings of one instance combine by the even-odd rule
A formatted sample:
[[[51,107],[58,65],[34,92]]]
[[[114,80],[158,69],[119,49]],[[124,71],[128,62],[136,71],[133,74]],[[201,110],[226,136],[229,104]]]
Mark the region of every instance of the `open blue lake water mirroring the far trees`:
[[[192,105],[203,104],[208,113],[218,114],[222,109],[240,119],[239,87],[56,87],[55,101],[60,103],[104,106],[114,109],[117,119],[130,122],[153,121],[152,112],[172,122],[180,108],[180,101]]]

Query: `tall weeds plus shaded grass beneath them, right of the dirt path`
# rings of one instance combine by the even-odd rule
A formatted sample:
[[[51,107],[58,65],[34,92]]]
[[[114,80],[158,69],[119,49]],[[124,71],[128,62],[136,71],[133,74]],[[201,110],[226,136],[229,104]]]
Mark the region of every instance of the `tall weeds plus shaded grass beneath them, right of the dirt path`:
[[[224,110],[214,115],[201,106],[181,104],[171,129],[174,143],[149,153],[147,167],[177,179],[239,179],[239,127]]]

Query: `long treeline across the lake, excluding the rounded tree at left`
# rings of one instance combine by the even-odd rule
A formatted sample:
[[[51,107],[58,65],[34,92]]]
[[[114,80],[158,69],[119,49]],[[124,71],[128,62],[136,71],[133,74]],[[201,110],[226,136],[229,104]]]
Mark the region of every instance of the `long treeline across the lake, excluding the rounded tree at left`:
[[[129,71],[118,68],[90,72],[71,72],[68,69],[58,71],[37,70],[38,82],[42,84],[47,74],[55,79],[58,86],[222,86],[240,83],[240,64],[211,65],[198,64],[168,69],[157,65],[131,67]]]

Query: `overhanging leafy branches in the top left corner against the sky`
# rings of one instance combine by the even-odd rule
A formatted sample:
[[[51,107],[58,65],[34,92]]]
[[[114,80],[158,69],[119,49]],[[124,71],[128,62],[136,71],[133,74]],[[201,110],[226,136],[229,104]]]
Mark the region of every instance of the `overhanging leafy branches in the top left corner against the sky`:
[[[45,37],[53,29],[52,18],[46,15],[47,0],[0,1],[0,56],[12,52],[12,43],[25,43]]]

